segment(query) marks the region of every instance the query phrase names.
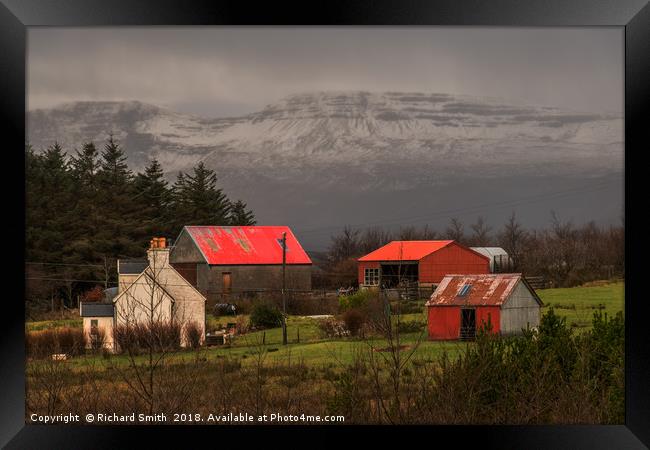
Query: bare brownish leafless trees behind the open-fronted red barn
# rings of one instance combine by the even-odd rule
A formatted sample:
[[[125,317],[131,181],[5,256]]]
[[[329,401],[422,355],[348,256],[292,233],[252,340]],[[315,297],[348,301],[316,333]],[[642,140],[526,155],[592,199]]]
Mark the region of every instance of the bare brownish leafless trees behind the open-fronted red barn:
[[[332,237],[327,254],[330,274],[327,280],[334,285],[354,284],[356,258],[392,240],[430,239],[454,239],[471,247],[502,247],[511,259],[508,270],[544,277],[554,286],[576,286],[624,276],[623,225],[603,227],[592,221],[576,226],[560,220],[554,212],[549,224],[546,229],[527,230],[513,212],[499,229],[488,225],[483,217],[469,226],[452,218],[442,231],[428,226],[404,227],[396,232],[380,227],[363,230],[345,227]]]

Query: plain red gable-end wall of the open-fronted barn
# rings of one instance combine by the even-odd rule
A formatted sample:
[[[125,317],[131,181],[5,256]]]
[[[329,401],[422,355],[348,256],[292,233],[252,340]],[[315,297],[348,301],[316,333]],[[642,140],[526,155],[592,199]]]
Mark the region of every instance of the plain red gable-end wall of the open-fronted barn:
[[[455,242],[420,260],[420,283],[440,283],[448,274],[490,273],[490,260]]]

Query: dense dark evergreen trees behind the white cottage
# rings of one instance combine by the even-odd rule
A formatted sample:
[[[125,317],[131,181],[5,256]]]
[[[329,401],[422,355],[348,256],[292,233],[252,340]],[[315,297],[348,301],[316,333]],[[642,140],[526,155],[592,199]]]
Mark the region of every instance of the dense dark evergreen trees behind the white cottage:
[[[26,277],[29,310],[76,306],[98,284],[111,286],[118,258],[144,257],[153,236],[176,238],[184,225],[253,225],[203,163],[169,184],[156,160],[140,173],[111,136],[68,154],[58,143],[26,146]]]

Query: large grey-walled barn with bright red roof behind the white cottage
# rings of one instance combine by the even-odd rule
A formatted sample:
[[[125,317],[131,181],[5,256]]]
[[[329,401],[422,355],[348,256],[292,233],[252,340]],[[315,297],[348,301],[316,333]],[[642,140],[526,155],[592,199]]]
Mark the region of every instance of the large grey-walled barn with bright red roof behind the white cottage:
[[[282,289],[286,233],[286,288],[311,289],[312,261],[287,226],[186,226],[170,254],[172,266],[209,303],[232,295]]]

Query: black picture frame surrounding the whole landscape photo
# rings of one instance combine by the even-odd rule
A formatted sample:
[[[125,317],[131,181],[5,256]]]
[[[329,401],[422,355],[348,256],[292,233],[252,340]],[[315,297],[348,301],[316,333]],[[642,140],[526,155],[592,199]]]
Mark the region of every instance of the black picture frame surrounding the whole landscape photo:
[[[650,102],[650,5],[645,0],[411,0],[312,1],[249,4],[225,0],[1,0],[0,117],[9,138],[5,146],[5,296],[0,380],[0,444],[7,448],[121,448],[197,439],[223,443],[250,428],[107,427],[26,425],[24,377],[24,148],[26,27],[119,25],[480,25],[480,26],[615,26],[625,30],[625,229],[626,229],[626,418],[625,425],[410,427],[430,445],[442,442],[506,448],[645,448],[650,446],[650,327],[644,298],[644,199],[642,163],[650,136],[645,117]],[[23,183],[23,184],[21,184]],[[8,252],[8,253],[7,253]],[[8,256],[8,257],[7,257]],[[24,261],[24,258],[23,258]],[[9,289],[6,289],[9,287]],[[391,428],[365,427],[378,439],[404,434]],[[332,428],[275,427],[295,442],[313,439],[307,432],[332,435]],[[259,431],[257,428],[254,431]],[[348,436],[357,427],[342,427]],[[191,434],[190,434],[191,433]],[[224,434],[225,433],[225,434]],[[325,434],[327,433],[327,434]],[[136,440],[137,439],[137,440]],[[268,438],[267,438],[268,439]],[[450,441],[451,440],[451,441]],[[270,440],[269,440],[270,441]],[[241,441],[248,442],[248,441]],[[286,441],[285,441],[286,442]],[[410,439],[409,439],[409,442]],[[406,445],[415,445],[406,444]],[[422,444],[418,445],[424,445]]]

